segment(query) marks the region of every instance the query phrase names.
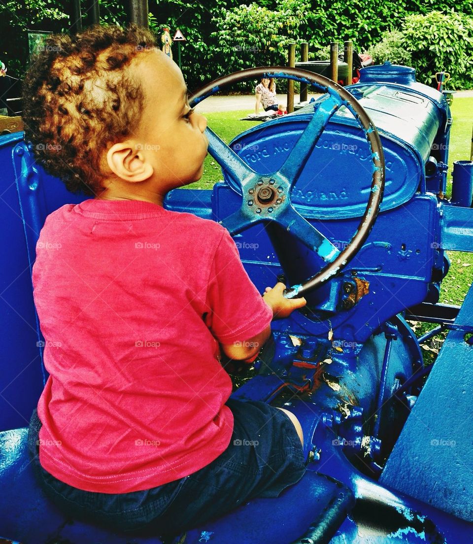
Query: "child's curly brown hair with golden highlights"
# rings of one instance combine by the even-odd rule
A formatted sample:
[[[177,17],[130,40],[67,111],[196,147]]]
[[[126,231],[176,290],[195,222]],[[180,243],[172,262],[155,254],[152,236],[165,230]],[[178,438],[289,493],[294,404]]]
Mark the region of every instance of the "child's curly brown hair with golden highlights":
[[[23,84],[25,139],[71,193],[99,193],[107,144],[138,127],[144,92],[124,68],[155,45],[155,36],[135,24],[95,25],[49,36],[32,59]]]

